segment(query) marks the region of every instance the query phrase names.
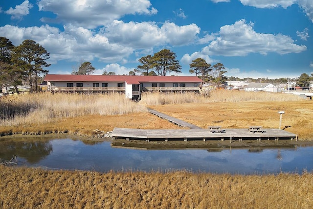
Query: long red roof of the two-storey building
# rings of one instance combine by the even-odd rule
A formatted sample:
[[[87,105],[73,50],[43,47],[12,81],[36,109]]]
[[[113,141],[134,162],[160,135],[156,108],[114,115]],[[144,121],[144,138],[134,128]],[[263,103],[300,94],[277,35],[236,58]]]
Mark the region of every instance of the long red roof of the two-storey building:
[[[140,82],[194,82],[202,80],[196,76],[142,76],[142,75],[71,75],[71,74],[47,74],[45,81],[67,82],[126,82],[127,84],[139,84]]]

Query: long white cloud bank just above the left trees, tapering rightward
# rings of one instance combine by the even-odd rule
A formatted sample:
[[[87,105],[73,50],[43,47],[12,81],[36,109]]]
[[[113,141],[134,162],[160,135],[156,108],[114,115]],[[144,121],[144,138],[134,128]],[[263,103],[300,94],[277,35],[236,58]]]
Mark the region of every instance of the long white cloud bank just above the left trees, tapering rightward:
[[[110,43],[102,35],[72,25],[66,26],[61,32],[56,27],[17,27],[5,25],[0,27],[0,36],[10,37],[14,45],[20,45],[25,39],[32,39],[50,52],[49,63],[57,60],[93,60],[112,62],[122,60],[133,53],[131,47]]]

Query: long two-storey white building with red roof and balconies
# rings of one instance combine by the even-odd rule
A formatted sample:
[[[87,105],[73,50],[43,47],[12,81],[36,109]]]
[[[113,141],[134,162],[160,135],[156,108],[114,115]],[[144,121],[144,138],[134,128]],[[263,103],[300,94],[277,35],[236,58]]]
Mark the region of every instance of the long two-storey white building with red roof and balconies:
[[[198,91],[202,80],[196,76],[70,75],[47,74],[47,90],[54,92],[122,92],[127,98],[140,99],[143,91]]]

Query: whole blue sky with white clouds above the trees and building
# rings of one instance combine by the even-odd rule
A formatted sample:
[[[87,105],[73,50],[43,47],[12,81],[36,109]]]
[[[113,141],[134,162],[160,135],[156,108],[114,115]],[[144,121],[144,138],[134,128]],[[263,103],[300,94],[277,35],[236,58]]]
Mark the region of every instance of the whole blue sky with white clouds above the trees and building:
[[[313,73],[312,31],[313,0],[0,0],[0,36],[44,46],[55,74],[128,74],[168,48],[178,75],[201,57],[226,76],[296,78]]]

